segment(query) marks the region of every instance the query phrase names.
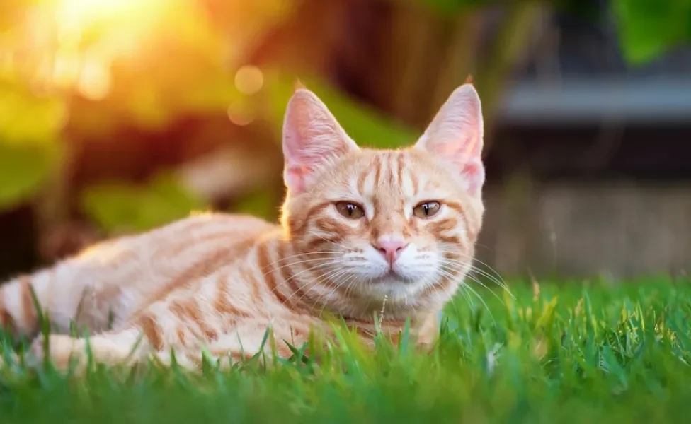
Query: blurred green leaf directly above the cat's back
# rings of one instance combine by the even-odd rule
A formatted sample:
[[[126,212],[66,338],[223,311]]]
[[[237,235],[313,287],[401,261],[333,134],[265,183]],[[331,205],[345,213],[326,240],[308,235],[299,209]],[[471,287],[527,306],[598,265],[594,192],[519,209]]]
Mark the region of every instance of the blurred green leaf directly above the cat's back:
[[[149,230],[207,206],[166,174],[146,185],[95,184],[81,193],[80,203],[89,218],[111,233]]]

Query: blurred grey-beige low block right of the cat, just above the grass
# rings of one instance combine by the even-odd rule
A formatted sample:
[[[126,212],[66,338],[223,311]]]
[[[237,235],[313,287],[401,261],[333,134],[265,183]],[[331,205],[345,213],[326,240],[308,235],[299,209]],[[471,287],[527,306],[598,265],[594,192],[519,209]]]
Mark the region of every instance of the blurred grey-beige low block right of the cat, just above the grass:
[[[507,275],[634,278],[691,270],[691,184],[550,184],[486,195],[478,258]]]

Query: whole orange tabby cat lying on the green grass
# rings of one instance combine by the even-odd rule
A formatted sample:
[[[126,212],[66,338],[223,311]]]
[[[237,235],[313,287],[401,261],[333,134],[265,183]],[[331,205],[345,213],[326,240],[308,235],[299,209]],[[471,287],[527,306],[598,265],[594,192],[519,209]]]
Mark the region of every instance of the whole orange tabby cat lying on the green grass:
[[[482,119],[465,83],[413,146],[360,148],[312,91],[296,88],[283,122],[280,223],[192,213],[106,240],[1,285],[0,324],[33,337],[33,358],[63,368],[84,359],[87,340],[107,364],[171,360],[171,351],[192,368],[202,350],[229,364],[262,349],[288,358],[282,341],[328,332],[328,314],[370,344],[377,316],[392,335],[410,319],[428,346],[481,230]],[[52,326],[47,352],[40,313]],[[71,323],[88,339],[70,336]]]

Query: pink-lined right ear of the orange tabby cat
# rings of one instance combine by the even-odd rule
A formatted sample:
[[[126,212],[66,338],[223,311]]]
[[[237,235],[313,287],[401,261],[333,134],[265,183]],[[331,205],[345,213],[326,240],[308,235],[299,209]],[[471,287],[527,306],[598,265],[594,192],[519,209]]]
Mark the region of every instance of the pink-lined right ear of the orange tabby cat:
[[[482,144],[480,98],[472,83],[466,83],[451,93],[415,147],[450,163],[468,192],[479,196],[485,179]]]

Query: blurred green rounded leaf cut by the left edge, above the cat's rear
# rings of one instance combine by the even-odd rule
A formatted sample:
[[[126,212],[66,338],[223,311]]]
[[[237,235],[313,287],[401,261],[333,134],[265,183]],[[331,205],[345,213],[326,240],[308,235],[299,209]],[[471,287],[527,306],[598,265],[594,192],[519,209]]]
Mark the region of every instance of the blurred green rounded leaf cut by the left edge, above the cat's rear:
[[[61,158],[59,145],[0,143],[0,211],[27,201]]]

